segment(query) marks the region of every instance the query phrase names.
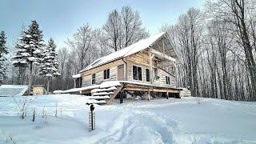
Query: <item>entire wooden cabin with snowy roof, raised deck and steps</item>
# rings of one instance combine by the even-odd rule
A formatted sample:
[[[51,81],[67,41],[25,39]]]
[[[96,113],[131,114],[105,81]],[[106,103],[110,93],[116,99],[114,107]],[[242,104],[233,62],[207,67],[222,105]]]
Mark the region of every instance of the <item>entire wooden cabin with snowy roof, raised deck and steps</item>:
[[[74,88],[80,94],[107,98],[106,103],[125,92],[145,93],[148,98],[150,93],[179,98],[182,90],[176,85],[179,62],[166,33],[162,32],[98,58],[73,76]]]

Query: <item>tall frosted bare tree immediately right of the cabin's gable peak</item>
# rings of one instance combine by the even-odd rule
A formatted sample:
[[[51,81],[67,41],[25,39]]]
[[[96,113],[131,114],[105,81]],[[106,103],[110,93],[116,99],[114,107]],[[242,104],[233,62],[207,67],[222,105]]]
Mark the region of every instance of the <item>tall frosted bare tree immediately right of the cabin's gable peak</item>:
[[[182,57],[182,70],[185,71],[185,81],[191,90],[192,95],[199,96],[198,92],[198,55],[202,43],[202,23],[201,12],[197,9],[190,8],[186,14],[178,18],[178,23],[174,26],[176,37],[171,39],[172,43],[177,43],[177,51]],[[168,34],[172,34],[169,32]],[[176,40],[177,42],[174,42]]]

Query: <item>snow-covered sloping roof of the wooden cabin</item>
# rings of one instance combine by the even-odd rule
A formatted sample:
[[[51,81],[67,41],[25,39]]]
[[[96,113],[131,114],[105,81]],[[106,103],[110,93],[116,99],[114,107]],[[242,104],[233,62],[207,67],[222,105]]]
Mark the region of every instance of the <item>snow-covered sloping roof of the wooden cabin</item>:
[[[151,36],[150,38],[142,39],[130,46],[127,46],[126,48],[122,50],[118,50],[112,54],[106,55],[105,57],[98,58],[96,61],[91,63],[89,66],[87,66],[84,70],[81,70],[79,73],[82,73],[86,70],[90,70],[97,66],[102,66],[103,64],[106,64],[107,62],[113,62],[114,60],[118,58],[124,58],[126,56],[129,56],[131,54],[138,53],[141,50],[145,50],[146,48],[149,48],[156,42],[159,38],[162,38],[166,34],[165,32],[155,34]]]

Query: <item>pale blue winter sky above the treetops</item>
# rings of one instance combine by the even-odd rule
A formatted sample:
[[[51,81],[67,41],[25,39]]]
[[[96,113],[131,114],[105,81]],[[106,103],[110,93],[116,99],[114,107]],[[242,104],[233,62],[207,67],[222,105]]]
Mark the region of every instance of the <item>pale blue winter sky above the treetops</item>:
[[[190,7],[202,8],[204,0],[0,0],[0,30],[6,31],[8,44],[17,38],[22,24],[37,20],[44,39],[54,38],[58,48],[83,23],[102,27],[111,10],[131,6],[138,10],[150,34],[164,23],[174,23]]]

